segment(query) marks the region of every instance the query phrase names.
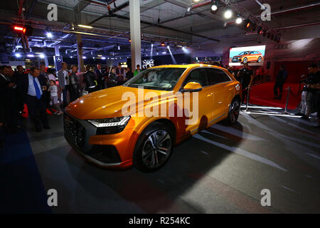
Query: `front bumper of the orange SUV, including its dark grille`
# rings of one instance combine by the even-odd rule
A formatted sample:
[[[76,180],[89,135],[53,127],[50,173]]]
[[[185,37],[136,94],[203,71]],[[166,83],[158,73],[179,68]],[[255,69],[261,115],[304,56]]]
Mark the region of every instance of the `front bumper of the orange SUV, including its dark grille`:
[[[132,165],[132,153],[131,157],[129,154],[133,150],[129,147],[128,130],[117,134],[96,135],[95,126],[87,120],[79,120],[68,113],[63,116],[63,128],[65,139],[73,149],[90,162],[102,167]]]

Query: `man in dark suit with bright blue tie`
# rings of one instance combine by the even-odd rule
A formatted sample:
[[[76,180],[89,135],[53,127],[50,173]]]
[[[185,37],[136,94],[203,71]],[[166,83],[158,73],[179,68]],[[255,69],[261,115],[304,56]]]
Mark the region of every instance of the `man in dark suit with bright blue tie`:
[[[32,67],[30,73],[18,81],[18,89],[23,93],[26,105],[28,106],[29,116],[38,132],[43,128],[50,129],[46,111],[46,97],[43,91],[46,91],[46,81],[39,80],[40,69]]]

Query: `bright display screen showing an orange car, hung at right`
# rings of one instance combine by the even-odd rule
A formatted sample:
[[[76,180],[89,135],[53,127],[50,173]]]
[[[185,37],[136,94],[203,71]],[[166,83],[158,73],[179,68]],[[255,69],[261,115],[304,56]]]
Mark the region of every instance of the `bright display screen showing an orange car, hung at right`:
[[[229,66],[262,66],[265,61],[265,45],[230,48]]]

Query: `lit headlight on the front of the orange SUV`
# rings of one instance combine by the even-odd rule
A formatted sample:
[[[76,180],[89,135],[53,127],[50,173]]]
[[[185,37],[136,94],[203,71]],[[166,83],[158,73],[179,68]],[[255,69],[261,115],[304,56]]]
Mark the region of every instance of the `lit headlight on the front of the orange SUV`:
[[[87,120],[97,128],[97,135],[119,133],[124,130],[130,116],[122,116],[107,119]]]

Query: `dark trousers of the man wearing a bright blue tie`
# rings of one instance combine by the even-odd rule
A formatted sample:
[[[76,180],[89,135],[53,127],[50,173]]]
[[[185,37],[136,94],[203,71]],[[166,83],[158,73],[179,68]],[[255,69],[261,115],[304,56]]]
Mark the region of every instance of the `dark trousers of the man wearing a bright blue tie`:
[[[29,116],[36,127],[41,129],[41,123],[43,126],[48,126],[48,117],[46,110],[46,101],[43,98],[38,99],[36,96],[27,95],[26,105],[28,106]]]

